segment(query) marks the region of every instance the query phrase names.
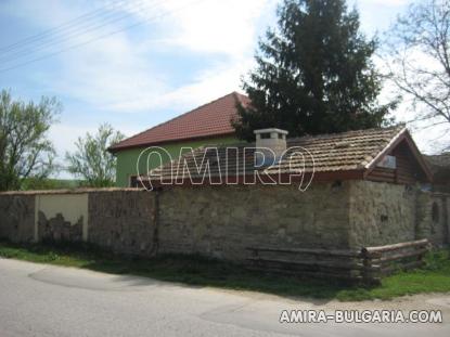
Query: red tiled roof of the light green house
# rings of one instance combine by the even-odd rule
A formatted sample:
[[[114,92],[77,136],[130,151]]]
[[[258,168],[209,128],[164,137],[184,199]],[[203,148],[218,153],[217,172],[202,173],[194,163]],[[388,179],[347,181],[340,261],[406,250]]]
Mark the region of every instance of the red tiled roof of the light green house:
[[[130,137],[110,150],[140,147],[151,144],[233,134],[231,119],[237,116],[236,104],[249,103],[246,95],[232,92],[193,111]]]

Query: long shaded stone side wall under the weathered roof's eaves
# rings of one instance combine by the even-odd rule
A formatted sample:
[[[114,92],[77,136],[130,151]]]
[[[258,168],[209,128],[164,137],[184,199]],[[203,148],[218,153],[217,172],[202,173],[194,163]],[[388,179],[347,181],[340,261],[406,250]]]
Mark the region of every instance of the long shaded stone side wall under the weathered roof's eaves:
[[[162,251],[244,259],[245,247],[347,248],[349,183],[173,187],[160,194]]]

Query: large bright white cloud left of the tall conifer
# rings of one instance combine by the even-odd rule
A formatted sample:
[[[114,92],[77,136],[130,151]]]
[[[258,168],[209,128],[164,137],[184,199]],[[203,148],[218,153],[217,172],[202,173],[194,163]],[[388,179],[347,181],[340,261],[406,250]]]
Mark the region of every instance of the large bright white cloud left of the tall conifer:
[[[133,46],[121,34],[66,60],[65,72],[73,81],[59,88],[99,107],[119,112],[183,108],[237,90],[241,76],[252,64],[255,21],[273,1],[209,0],[191,7],[187,3],[192,1],[181,1],[181,5],[179,1],[164,2],[160,13],[172,14],[158,21],[159,29],[166,33],[158,38],[159,42],[177,48],[180,53],[215,53],[227,56],[226,61],[215,63],[189,82],[173,88],[165,82],[164,74],[145,62],[149,41]],[[151,4],[138,8],[136,14],[141,20],[155,17],[153,12],[141,10]],[[150,48],[155,48],[154,42],[151,41]]]

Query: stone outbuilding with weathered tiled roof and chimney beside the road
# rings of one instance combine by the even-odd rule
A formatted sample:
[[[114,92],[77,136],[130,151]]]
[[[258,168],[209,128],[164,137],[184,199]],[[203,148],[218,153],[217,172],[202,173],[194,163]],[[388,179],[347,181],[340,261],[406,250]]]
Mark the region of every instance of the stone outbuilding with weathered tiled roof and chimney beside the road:
[[[201,147],[141,177],[162,195],[159,225],[178,237],[168,251],[191,247],[239,258],[253,245],[356,249],[422,237],[448,242],[448,221],[432,219],[433,195],[422,191],[430,170],[404,127],[287,140],[278,129],[256,133],[253,145]],[[270,140],[277,146],[284,140],[284,158],[291,148],[304,151],[256,166],[258,148],[270,147]],[[209,165],[198,169],[201,163]]]

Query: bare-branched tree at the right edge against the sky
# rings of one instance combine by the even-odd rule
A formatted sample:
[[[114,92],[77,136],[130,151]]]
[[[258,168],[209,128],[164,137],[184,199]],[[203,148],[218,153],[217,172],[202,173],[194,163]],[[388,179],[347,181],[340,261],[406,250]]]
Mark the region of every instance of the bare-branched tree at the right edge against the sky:
[[[450,1],[420,0],[387,34],[388,76],[415,120],[450,122]]]

